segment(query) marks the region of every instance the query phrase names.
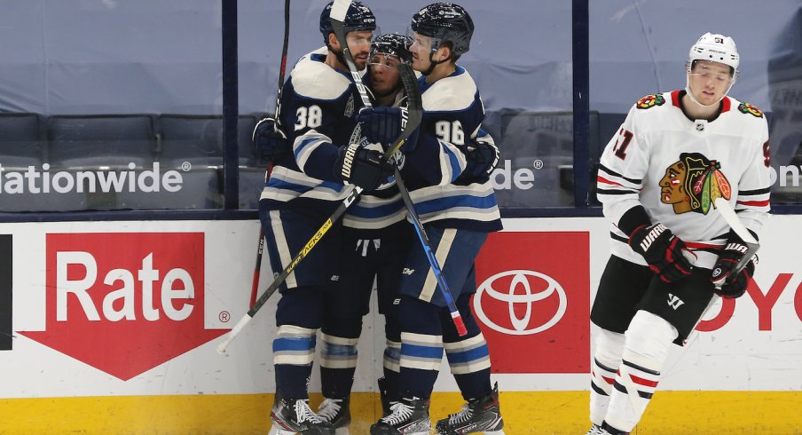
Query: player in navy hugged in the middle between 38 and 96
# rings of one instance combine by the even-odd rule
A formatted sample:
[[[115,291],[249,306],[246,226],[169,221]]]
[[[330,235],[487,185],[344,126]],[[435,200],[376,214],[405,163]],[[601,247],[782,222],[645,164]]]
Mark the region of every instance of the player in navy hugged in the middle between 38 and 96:
[[[373,40],[364,81],[376,111],[380,111],[380,107],[406,104],[397,65],[410,60],[405,36],[387,34]],[[366,112],[359,117],[366,117]],[[400,127],[384,127],[382,130],[389,130],[388,138],[394,140]],[[321,328],[320,378],[324,400],[318,415],[334,428],[350,424],[350,392],[357,368],[357,344],[362,318],[369,312],[373,280],[376,281],[379,312],[385,316],[385,376],[379,381],[385,402],[389,400],[387,392],[395,390],[390,385],[397,385],[401,331],[397,316],[393,314],[392,301],[396,298],[405,258],[415,242],[412,226],[405,218],[404,202],[393,182],[362,194],[343,217],[339,254],[342,266],[336,285],[326,293]]]

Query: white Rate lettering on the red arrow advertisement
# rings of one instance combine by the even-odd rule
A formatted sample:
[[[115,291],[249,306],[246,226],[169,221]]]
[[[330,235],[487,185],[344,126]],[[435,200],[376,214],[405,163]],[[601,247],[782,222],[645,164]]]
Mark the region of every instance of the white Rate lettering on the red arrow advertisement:
[[[86,273],[78,279],[70,279],[67,271],[83,268]],[[153,289],[153,282],[160,281],[159,289]],[[98,281],[98,263],[89,252],[62,251],[56,254],[56,320],[67,321],[67,297],[74,295],[86,318],[98,321],[98,306],[92,301],[87,290],[95,287]],[[138,284],[135,282],[138,281]],[[161,271],[153,269],[153,253],[142,258],[136,276],[127,269],[113,269],[103,277],[103,284],[113,288],[103,298],[102,312],[106,320],[136,320],[137,312],[142,312],[145,320],[156,321],[161,317],[160,310],[153,300],[161,300],[161,310],[169,320],[186,320],[193,312],[193,305],[176,303],[174,299],[193,299],[195,287],[193,278],[184,269],[170,269],[161,277]],[[141,289],[141,297],[136,297]],[[141,311],[137,300],[142,301]]]

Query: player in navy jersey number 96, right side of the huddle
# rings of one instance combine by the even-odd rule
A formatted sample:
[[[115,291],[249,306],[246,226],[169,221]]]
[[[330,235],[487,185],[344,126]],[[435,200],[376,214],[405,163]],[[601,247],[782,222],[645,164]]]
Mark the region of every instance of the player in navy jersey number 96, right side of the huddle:
[[[487,344],[468,306],[476,292],[476,255],[487,234],[501,229],[489,181],[497,159],[476,165],[469,157],[473,151],[469,142],[477,137],[484,107],[476,83],[456,65],[468,51],[474,25],[459,5],[438,3],[414,14],[412,30],[410,51],[413,69],[422,73],[424,115],[417,146],[405,150],[401,176],[443,266],[468,335],[458,335],[425,252],[413,247],[397,305],[400,400],[392,405],[390,415],[373,424],[371,433],[429,434],[429,398],[444,350],[468,403],[459,413],[437,422],[437,433],[503,433]]]

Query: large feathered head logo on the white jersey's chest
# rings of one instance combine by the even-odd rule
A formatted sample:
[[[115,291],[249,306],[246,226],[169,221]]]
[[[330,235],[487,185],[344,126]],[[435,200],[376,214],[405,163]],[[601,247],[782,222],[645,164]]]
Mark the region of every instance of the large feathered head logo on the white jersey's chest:
[[[706,215],[718,198],[732,195],[721,164],[699,153],[682,153],[680,161],[665,170],[660,180],[660,202],[672,204],[674,213],[695,211]]]

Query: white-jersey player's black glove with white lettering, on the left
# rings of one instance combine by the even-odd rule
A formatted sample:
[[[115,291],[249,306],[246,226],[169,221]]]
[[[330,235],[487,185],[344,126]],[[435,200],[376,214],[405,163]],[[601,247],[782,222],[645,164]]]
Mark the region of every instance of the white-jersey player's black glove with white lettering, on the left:
[[[694,268],[683,255],[683,251],[692,255],[685,242],[663,224],[635,228],[629,236],[629,246],[641,254],[649,268],[665,282],[680,281]]]

